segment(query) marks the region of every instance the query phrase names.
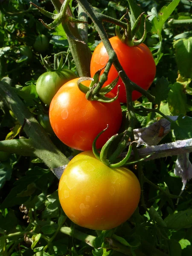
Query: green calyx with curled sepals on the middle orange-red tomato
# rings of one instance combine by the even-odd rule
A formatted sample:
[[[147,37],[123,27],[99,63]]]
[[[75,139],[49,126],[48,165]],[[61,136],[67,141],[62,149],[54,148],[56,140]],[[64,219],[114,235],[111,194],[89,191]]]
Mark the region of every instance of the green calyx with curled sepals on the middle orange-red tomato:
[[[117,91],[117,94],[116,94],[115,97],[108,98],[105,95],[107,93],[109,93],[116,86],[117,81],[119,79],[119,74],[118,74],[117,78],[111,82],[111,84],[109,84],[106,87],[102,87],[104,82],[105,82],[105,81],[99,80],[100,73],[101,73],[102,70],[103,70],[103,68],[98,70],[95,73],[95,75],[93,76],[93,78],[91,78],[91,77],[81,77],[77,81],[77,85],[79,87],[79,90],[81,90],[81,92],[86,94],[86,99],[87,100],[104,102],[104,103],[113,102],[113,101],[115,101],[118,98],[119,86],[118,86],[118,91]],[[81,84],[82,81],[86,81],[86,80],[90,80],[91,81],[89,87]]]

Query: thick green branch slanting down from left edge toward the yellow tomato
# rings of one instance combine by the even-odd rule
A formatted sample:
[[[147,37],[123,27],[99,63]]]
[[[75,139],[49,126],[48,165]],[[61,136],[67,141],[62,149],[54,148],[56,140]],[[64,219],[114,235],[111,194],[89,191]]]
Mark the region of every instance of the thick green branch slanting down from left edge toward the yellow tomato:
[[[26,119],[24,131],[32,142],[34,154],[50,168],[67,164],[69,160],[49,139],[44,129],[39,125],[35,117],[28,111],[21,99],[6,82],[0,81],[0,98],[15,114],[20,124]],[[17,153],[17,152],[15,152]]]

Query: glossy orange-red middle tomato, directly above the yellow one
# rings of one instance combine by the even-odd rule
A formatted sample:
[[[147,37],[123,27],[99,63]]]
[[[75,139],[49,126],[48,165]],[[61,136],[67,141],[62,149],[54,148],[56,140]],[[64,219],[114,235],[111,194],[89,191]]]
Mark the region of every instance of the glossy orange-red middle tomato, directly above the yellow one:
[[[57,137],[67,146],[81,151],[90,150],[96,135],[97,148],[116,134],[121,126],[122,111],[118,100],[111,103],[88,101],[77,86],[78,79],[64,84],[55,94],[49,108],[49,119]],[[90,81],[82,82],[89,86]],[[108,93],[108,97],[114,97]]]

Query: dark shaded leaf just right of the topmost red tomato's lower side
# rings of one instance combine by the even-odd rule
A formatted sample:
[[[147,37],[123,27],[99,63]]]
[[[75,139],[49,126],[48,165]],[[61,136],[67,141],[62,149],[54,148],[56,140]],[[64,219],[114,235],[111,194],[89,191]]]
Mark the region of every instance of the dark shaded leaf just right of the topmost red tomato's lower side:
[[[154,103],[160,106],[160,102],[168,98],[169,90],[169,82],[167,81],[167,79],[164,77],[158,79],[155,84],[155,87],[151,89],[151,94],[155,96]]]

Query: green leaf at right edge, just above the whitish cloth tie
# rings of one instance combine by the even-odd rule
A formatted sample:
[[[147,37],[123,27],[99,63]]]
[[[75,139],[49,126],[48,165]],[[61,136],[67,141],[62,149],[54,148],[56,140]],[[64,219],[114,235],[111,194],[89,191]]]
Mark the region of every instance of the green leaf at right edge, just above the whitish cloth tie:
[[[176,140],[186,140],[192,138],[192,117],[180,114],[175,122],[171,123]]]

